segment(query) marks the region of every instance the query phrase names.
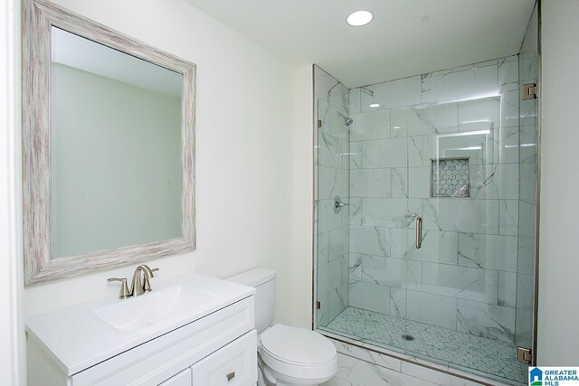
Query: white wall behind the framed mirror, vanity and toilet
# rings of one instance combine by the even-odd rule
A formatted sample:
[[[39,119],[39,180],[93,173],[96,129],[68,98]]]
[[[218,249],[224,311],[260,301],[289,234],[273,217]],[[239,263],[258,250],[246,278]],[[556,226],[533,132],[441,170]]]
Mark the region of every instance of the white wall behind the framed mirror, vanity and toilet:
[[[153,288],[156,280],[191,272],[224,278],[248,268],[271,267],[279,278],[276,319],[307,325],[303,308],[309,306],[302,302],[308,298],[311,279],[309,270],[304,274],[302,268],[308,266],[311,252],[304,252],[308,240],[294,238],[298,218],[294,204],[306,202],[295,196],[306,194],[303,181],[308,181],[297,169],[306,164],[311,169],[311,147],[303,143],[294,147],[295,141],[304,139],[294,135],[292,127],[307,122],[306,140],[310,138],[311,91],[305,87],[305,71],[294,73],[269,52],[182,0],[57,3],[197,64],[197,250],[151,261],[151,267],[160,268]],[[294,90],[304,95],[293,99]],[[306,105],[308,109],[302,111]],[[294,110],[301,118],[294,118]],[[296,149],[306,153],[299,154],[305,159],[294,164]],[[303,211],[309,209],[302,205],[299,211],[303,219]],[[308,226],[310,217],[300,223],[299,231]],[[299,249],[297,239],[304,243]],[[128,277],[133,268],[29,287],[25,315],[115,297],[119,287],[106,278]]]

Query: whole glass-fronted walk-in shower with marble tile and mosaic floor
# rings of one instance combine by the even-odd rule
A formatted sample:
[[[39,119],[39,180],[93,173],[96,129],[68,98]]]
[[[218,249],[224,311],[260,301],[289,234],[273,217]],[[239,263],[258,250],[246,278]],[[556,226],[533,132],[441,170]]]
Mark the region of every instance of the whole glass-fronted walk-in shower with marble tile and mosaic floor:
[[[526,382],[536,52],[356,89],[314,71],[318,331]]]

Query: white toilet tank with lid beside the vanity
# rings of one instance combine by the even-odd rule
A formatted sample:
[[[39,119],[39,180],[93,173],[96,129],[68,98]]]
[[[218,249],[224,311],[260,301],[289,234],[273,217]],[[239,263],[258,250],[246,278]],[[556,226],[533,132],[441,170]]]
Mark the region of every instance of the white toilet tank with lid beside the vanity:
[[[243,286],[255,287],[255,329],[260,334],[273,321],[275,271],[270,268],[254,268],[226,278],[226,280]]]

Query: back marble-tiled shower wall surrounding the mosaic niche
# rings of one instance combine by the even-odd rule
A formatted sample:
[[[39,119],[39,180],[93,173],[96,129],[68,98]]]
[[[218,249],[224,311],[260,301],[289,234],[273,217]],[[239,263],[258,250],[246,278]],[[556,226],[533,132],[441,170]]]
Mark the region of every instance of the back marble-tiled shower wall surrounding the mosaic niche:
[[[514,342],[518,100],[517,56],[351,90],[350,306]],[[470,198],[431,198],[446,157]]]

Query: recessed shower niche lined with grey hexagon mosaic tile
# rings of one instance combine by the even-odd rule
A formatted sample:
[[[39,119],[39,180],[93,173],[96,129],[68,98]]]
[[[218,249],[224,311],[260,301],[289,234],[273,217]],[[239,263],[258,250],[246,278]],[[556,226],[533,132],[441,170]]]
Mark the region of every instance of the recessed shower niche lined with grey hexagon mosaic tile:
[[[432,160],[431,197],[469,197],[469,158]]]

